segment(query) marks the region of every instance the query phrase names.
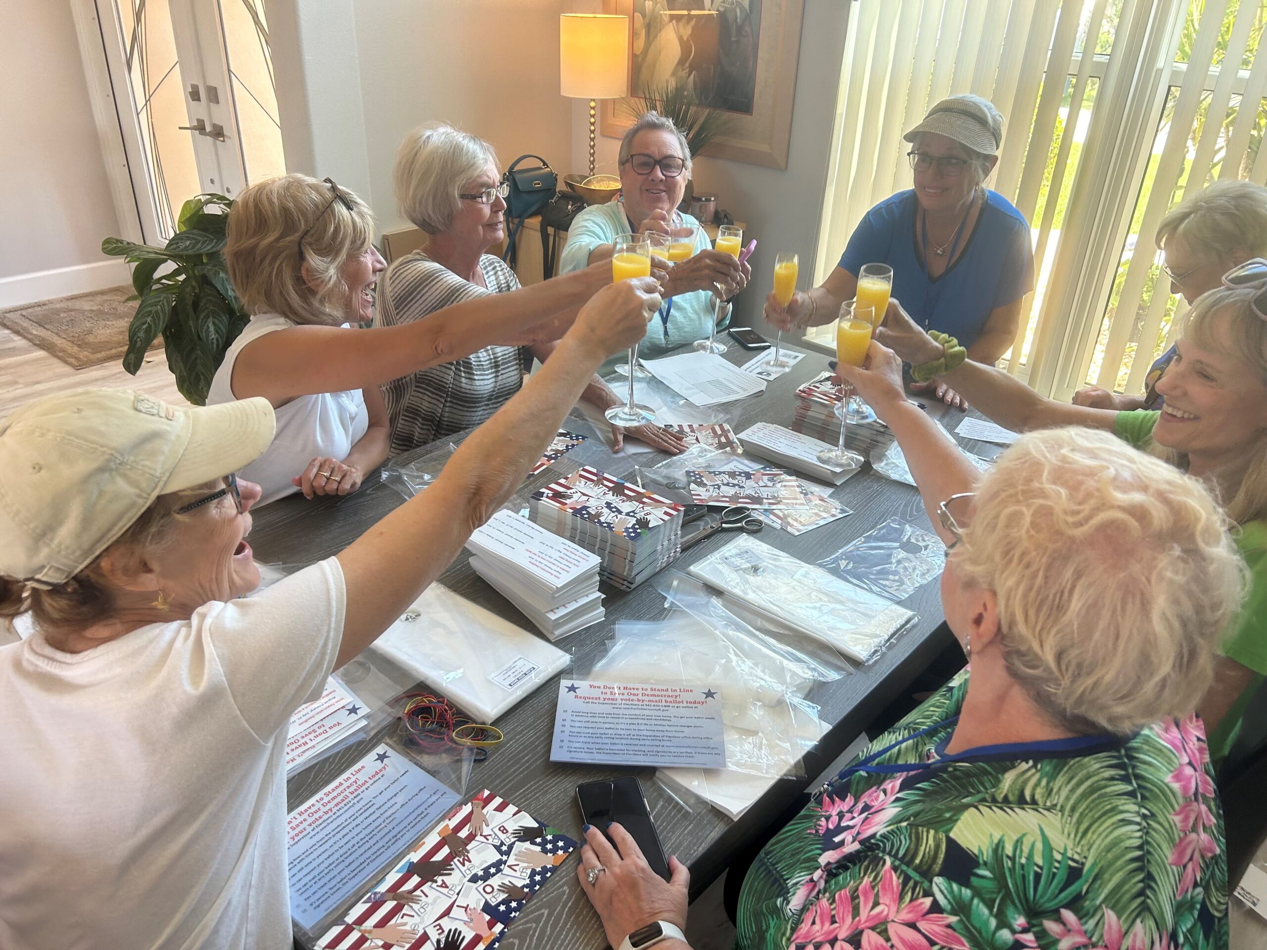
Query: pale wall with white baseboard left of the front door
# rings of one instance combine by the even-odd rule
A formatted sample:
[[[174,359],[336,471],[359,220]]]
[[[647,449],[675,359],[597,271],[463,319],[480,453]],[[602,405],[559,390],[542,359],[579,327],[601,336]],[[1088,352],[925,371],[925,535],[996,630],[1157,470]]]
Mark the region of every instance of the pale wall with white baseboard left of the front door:
[[[0,307],[125,284],[70,4],[8,4],[0,30]]]

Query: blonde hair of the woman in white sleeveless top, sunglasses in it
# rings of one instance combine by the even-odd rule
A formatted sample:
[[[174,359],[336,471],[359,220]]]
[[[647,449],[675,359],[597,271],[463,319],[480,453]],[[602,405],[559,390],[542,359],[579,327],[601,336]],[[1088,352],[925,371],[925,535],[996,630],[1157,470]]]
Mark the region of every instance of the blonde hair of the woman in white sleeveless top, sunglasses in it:
[[[374,215],[347,189],[338,194],[343,200],[317,179],[283,175],[238,195],[224,261],[247,313],[277,313],[295,323],[347,320],[343,265],[374,242]]]

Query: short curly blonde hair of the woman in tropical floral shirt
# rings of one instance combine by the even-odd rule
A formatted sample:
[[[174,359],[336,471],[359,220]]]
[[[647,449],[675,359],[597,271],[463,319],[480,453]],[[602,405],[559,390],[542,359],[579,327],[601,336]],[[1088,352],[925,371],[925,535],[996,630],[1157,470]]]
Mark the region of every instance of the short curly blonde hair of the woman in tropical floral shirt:
[[[1003,453],[950,557],[995,592],[1011,676],[1077,732],[1190,714],[1247,578],[1201,483],[1077,427]]]

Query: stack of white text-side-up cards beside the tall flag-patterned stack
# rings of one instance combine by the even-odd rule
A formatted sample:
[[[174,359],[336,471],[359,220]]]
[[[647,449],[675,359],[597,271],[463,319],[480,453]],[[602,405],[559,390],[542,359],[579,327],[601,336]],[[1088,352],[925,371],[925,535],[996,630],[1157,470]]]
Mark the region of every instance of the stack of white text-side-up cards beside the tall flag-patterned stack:
[[[466,541],[470,565],[550,640],[606,616],[598,557],[513,512],[498,512]]]

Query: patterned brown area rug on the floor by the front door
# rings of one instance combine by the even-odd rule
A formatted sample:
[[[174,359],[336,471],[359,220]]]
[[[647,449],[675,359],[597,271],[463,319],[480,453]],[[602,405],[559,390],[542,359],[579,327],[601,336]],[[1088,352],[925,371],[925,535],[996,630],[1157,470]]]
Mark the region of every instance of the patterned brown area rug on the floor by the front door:
[[[131,286],[58,296],[0,312],[0,326],[11,329],[67,366],[82,370],[128,351],[128,324],[137,301]],[[155,341],[161,346],[162,338]]]

